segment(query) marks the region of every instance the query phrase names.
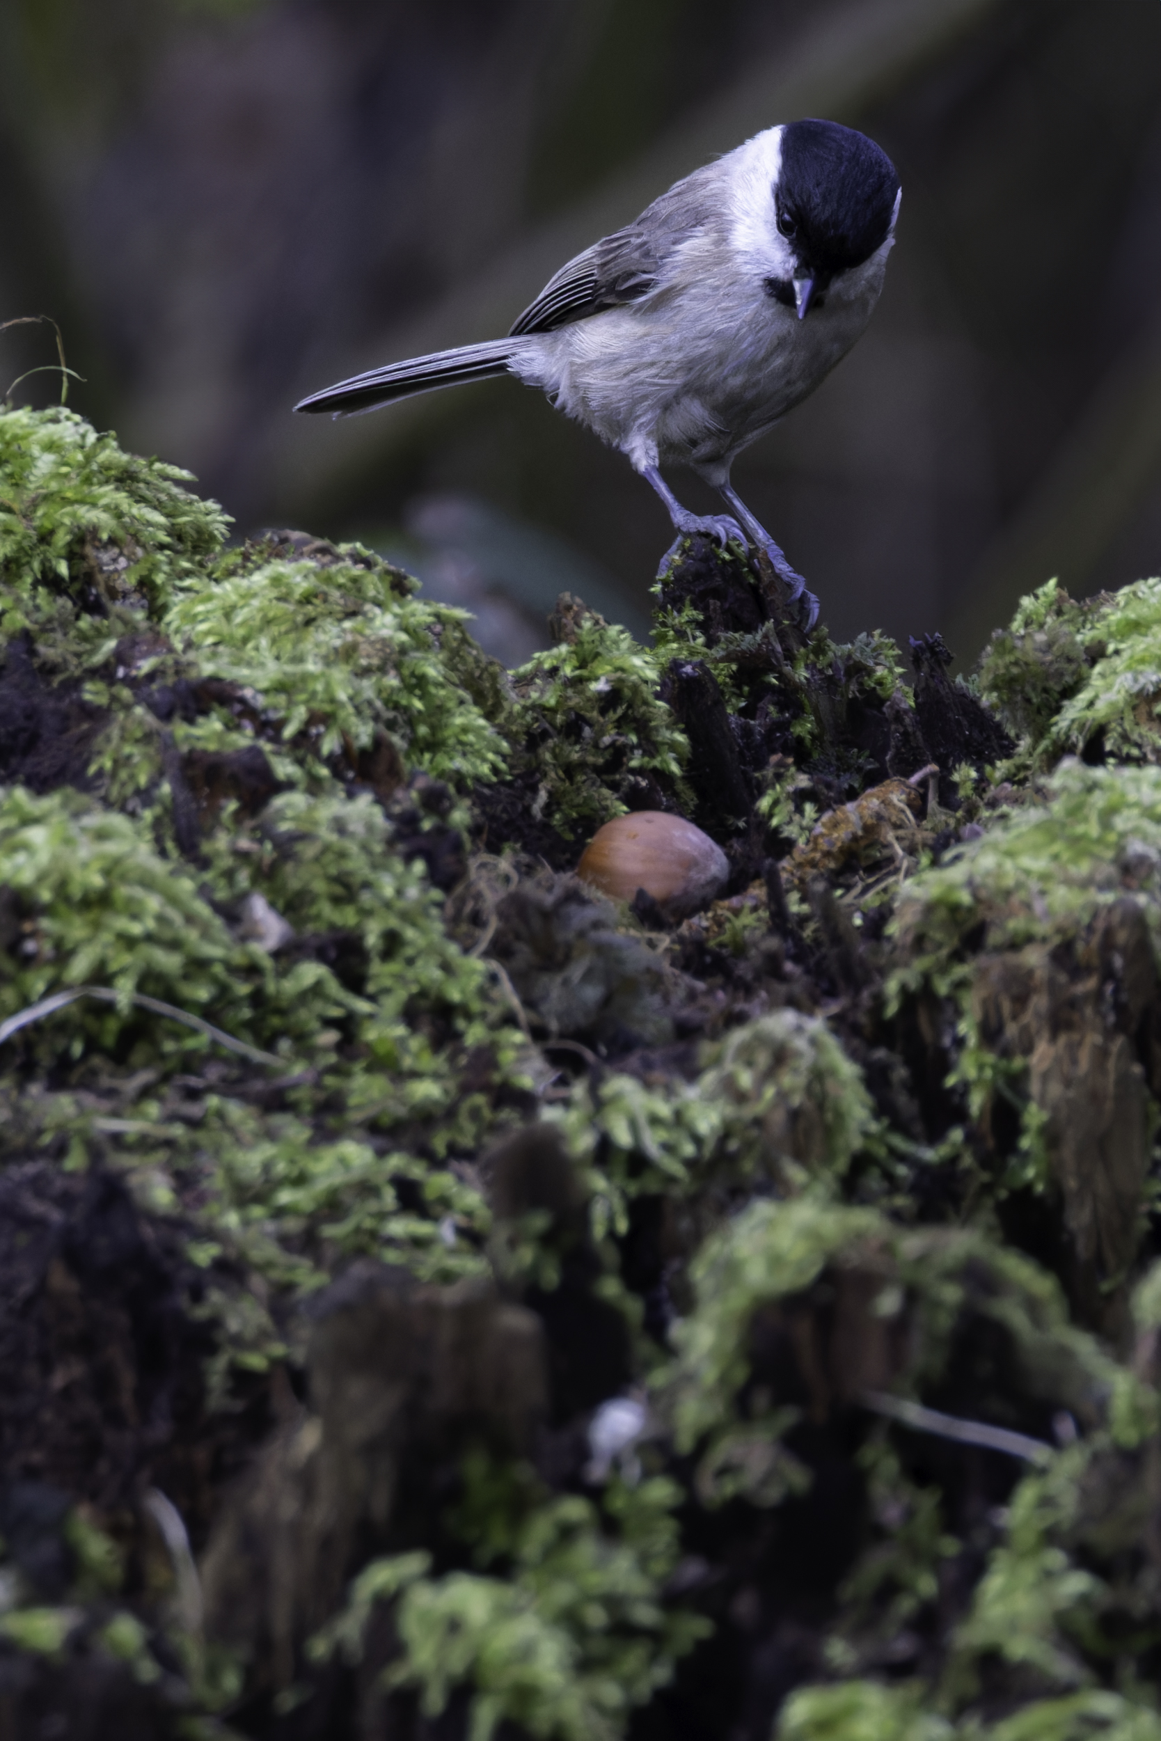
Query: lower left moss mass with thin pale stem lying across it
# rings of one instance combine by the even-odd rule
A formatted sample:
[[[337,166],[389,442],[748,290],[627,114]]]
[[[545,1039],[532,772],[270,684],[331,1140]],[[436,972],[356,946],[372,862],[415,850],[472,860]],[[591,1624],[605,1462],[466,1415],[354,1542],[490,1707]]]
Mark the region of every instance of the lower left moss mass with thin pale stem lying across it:
[[[78,1069],[120,1053],[124,1067],[146,1074],[132,1099],[108,1109],[111,1119],[91,1097],[24,1099],[0,1149],[64,1142],[85,1165],[99,1133],[143,1203],[162,1212],[195,1203],[195,1247],[202,1241],[211,1262],[219,1250],[244,1257],[280,1292],[313,1288],[334,1264],[364,1254],[426,1280],[482,1273],[486,1205],[439,1156],[475,1153],[494,1118],[484,1093],[460,1086],[468,1052],[487,1048],[500,1079],[524,1041],[487,966],[447,937],[423,867],[392,850],[367,796],[280,794],[258,823],[219,827],[207,850],[195,881],[143,841],[139,823],[77,794],[0,796],[0,886],[12,931],[0,1017],[63,987],[111,987],[124,1006],[80,1001],[28,1029],[23,1043],[54,1060],[71,1055]],[[310,956],[272,956],[238,940],[221,912],[237,912],[249,893],[298,935],[352,938],[364,965],[359,992]],[[289,1062],[310,1060],[319,1078],[306,1076],[298,1114],[209,1093],[188,1121],[181,1093],[157,1078],[205,1041],[143,1015],[134,992],[235,1038],[279,1045]],[[383,1130],[402,1132],[402,1144],[385,1153],[371,1135]],[[284,1353],[265,1307],[249,1309],[249,1299],[237,1287],[211,1288],[226,1346],[214,1395],[225,1395],[233,1367]]]

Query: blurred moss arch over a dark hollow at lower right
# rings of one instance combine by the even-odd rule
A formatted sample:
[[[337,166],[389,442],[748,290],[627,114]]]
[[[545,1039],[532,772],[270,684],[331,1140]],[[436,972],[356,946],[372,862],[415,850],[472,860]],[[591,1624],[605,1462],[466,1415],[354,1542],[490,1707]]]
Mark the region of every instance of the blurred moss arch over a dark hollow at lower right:
[[[707,1506],[806,1502],[827,1480],[834,1438],[823,1422],[849,1433],[860,1412],[893,1417],[900,1396],[916,1400],[919,1431],[954,1431],[938,1408],[1036,1429],[1023,1445],[1037,1468],[992,1522],[983,1576],[938,1670],[926,1685],[862,1699],[851,1680],[882,1661],[889,1638],[928,1631],[940,1590],[982,1543],[971,1508],[949,1515],[945,1483],[909,1475],[916,1462],[931,1468],[916,1440],[903,1464],[882,1422],[865,1431],[867,1529],[853,1536],[822,1647],[844,1685],[799,1694],[778,1734],[858,1741],[938,1734],[942,1724],[949,1736],[976,1736],[990,1732],[980,1720],[997,1704],[1022,1706],[1032,1734],[1037,1711],[1055,1734],[1065,1710],[1055,1701],[1097,1687],[1121,1650],[1124,1617],[1144,1623],[1149,1609],[1149,1556],[1123,1556],[1152,1480],[1156,1393],[1069,1323],[1051,1276],[975,1229],[903,1231],[870,1210],[806,1198],[755,1203],[707,1241],[693,1280],[695,1309],[660,1382],[677,1443],[698,1452]],[[1055,1450],[1050,1421],[1060,1419],[1083,1438]],[[1149,1623],[1133,1647],[1145,1638],[1156,1640]],[[1119,1722],[1133,1706],[1097,1701],[1077,1713]]]

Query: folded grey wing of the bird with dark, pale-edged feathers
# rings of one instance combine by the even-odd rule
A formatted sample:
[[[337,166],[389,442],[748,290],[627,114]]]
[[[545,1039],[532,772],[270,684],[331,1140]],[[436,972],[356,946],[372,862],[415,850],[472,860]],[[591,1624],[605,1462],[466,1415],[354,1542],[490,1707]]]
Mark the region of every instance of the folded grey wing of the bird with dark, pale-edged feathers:
[[[648,296],[665,279],[665,265],[674,249],[714,221],[715,181],[715,164],[695,171],[654,200],[635,223],[614,230],[569,259],[548,279],[508,336],[552,333],[554,327],[583,320],[602,308]]]

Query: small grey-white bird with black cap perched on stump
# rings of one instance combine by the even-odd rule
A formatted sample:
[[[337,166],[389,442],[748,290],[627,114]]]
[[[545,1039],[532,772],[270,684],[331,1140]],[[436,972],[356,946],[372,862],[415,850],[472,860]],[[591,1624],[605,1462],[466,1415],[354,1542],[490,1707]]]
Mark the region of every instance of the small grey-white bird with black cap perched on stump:
[[[301,399],[348,416],[439,387],[512,374],[625,454],[677,538],[764,550],[818,599],[729,482],[733,461],[848,353],[870,320],[902,186],[872,139],[832,120],[757,132],[684,176],[623,230],[548,279],[507,338],[407,357]],[[684,465],[729,514],[684,508],[661,467]]]

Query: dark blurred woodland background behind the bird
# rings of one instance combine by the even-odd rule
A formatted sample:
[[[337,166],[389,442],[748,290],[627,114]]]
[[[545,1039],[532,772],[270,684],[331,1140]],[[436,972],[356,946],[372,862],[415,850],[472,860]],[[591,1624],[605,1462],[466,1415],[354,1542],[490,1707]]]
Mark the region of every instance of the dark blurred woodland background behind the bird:
[[[869,333],[735,472],[834,632],[940,629],[970,663],[1050,575],[1161,568],[1158,0],[5,0],[0,97],[0,319],[56,317],[70,404],[238,531],[406,555],[508,660],[564,587],[642,629],[648,486],[513,381],[292,402],[505,333],[795,115],[903,181]],[[0,346],[0,390],[56,357],[47,327]]]

